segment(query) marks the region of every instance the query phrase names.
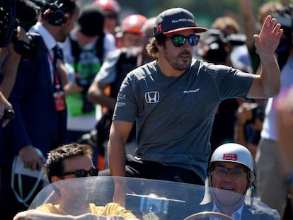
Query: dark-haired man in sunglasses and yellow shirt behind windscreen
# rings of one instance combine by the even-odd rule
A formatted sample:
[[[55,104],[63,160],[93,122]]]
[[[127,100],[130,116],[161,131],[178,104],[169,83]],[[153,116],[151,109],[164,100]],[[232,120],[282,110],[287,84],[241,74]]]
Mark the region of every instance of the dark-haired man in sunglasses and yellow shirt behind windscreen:
[[[47,161],[44,166],[45,175],[47,175],[50,183],[69,178],[98,176],[98,168],[93,166],[92,154],[91,146],[86,144],[72,143],[59,146],[47,154]],[[117,203],[108,203],[105,207],[90,203],[88,204],[89,213],[79,213],[79,208],[84,208],[84,205],[72,204],[66,198],[67,196],[63,199],[62,195],[67,193],[63,192],[64,188],[60,187],[59,189],[57,186],[54,186],[54,188],[57,192],[59,204],[49,203],[50,199],[52,200],[51,196],[46,204],[40,205],[37,209],[19,212],[13,220],[30,219],[32,217],[33,219],[64,219],[64,215],[66,215],[66,219],[107,219],[107,217],[108,219],[136,219],[130,210]],[[79,192],[74,193],[79,194]],[[71,215],[73,213],[74,216]]]

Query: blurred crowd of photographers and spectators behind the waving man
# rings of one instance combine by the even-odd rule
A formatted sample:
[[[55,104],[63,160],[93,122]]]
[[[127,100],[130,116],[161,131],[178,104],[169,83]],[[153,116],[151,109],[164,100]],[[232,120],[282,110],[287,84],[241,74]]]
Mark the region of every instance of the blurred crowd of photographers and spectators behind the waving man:
[[[259,33],[268,14],[280,16],[278,11],[287,10],[293,20],[293,8],[289,1],[268,3],[263,4],[256,15],[252,13],[251,1],[239,1],[243,27],[231,16],[217,18],[200,36],[193,56],[259,74],[261,65],[253,35]],[[45,39],[38,41],[42,48],[37,59],[16,51],[11,43],[1,44],[0,117],[4,109],[13,109],[15,113],[10,121],[2,119],[0,128],[0,192],[1,198],[11,198],[0,202],[0,210],[6,212],[8,218],[24,210],[24,204],[33,199],[20,201],[13,192],[15,189],[11,189],[16,155],[21,156],[28,168],[39,169],[43,161],[35,148],[46,156],[57,146],[79,142],[93,147],[95,166],[100,170],[108,168],[108,135],[120,84],[132,69],[155,59],[145,48],[154,36],[155,18],[136,13],[121,19],[123,8],[121,2],[115,0],[91,1],[81,8],[75,6],[74,1],[68,2],[62,18],[57,17],[57,12],[63,8],[57,6],[56,11],[41,10],[38,23],[30,30],[18,28],[18,42],[28,42],[25,32],[38,33]],[[65,28],[61,28],[63,24]],[[246,146],[256,163],[256,196],[277,209],[282,219],[292,219],[292,180],[284,181],[292,170],[282,172],[284,165],[278,152],[280,144],[286,144],[283,138],[292,137],[278,134],[281,129],[277,110],[280,108],[275,108],[275,103],[279,96],[284,98],[283,94],[293,84],[293,26],[281,25],[284,33],[276,56],[282,73],[282,93],[265,100],[224,100],[214,118],[210,144],[212,151],[228,142]],[[46,77],[40,76],[41,70]],[[288,97],[293,99],[292,91]],[[288,120],[293,120],[290,117],[292,115],[288,115]],[[127,141],[127,154],[135,154],[135,144],[134,129]],[[293,156],[282,154],[285,155]],[[23,180],[25,193],[30,192],[32,181]],[[40,184],[38,190],[41,188]]]

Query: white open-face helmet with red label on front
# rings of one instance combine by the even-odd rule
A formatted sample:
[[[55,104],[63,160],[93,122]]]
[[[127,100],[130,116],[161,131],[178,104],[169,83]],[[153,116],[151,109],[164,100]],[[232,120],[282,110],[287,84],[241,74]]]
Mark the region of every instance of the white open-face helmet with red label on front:
[[[236,143],[222,144],[212,154],[209,167],[214,163],[227,161],[232,163],[239,163],[248,168],[248,180],[253,183],[255,180],[255,166],[251,152],[243,145]]]

